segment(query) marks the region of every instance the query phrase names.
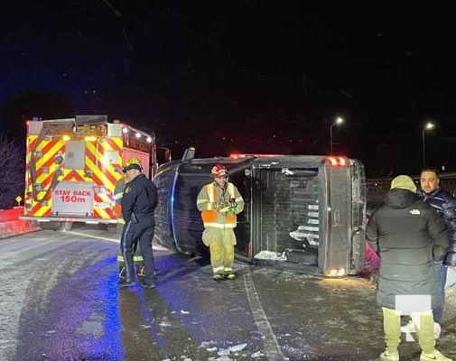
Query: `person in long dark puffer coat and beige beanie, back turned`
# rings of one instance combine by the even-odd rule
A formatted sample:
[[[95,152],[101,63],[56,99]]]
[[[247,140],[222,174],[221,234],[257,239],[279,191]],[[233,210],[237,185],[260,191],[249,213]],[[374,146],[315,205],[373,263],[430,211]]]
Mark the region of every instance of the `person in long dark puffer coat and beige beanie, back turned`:
[[[404,296],[426,295],[430,304],[417,308],[420,361],[449,361],[435,349],[433,307],[439,302],[434,262],[446,255],[449,241],[442,219],[432,208],[416,197],[414,181],[405,175],[391,182],[382,206],[368,222],[368,242],[380,256],[377,302],[383,309],[386,350],[383,361],[398,361],[400,343],[400,310],[396,301]]]

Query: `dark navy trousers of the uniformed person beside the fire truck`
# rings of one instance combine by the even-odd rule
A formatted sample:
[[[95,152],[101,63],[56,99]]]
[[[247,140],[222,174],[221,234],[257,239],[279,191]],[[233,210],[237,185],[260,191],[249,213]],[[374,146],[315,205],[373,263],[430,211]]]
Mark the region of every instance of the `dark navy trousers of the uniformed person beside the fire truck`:
[[[155,263],[152,250],[154,238],[154,219],[139,218],[138,223],[130,220],[126,223],[120,238],[120,251],[124,255],[126,266],[126,280],[133,281],[135,278],[134,260],[135,241],[139,241],[139,249],[144,259],[144,282],[154,282]]]

